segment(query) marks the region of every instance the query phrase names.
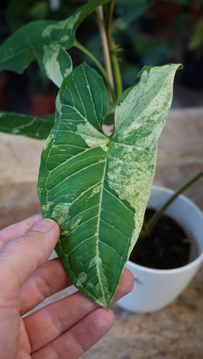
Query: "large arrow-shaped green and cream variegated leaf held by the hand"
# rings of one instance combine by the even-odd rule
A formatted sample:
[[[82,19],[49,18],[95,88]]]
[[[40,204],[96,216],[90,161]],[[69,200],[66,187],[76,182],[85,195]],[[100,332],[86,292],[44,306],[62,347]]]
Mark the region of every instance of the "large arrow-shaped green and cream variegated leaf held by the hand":
[[[177,64],[144,67],[102,131],[108,95],[85,63],[63,80],[56,122],[41,155],[44,217],[61,227],[56,251],[73,284],[108,309],[142,228]]]

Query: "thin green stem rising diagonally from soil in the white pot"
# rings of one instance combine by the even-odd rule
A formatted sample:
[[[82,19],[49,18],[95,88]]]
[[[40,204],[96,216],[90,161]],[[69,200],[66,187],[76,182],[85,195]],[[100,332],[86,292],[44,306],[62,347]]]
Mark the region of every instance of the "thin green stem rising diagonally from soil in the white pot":
[[[187,187],[193,184],[193,182],[197,181],[200,177],[203,176],[203,171],[198,172],[196,175],[191,177],[187,182],[185,182],[182,186],[180,186],[169,199],[162,205],[162,207],[157,210],[151,218],[148,220],[148,222],[144,226],[144,232],[146,235],[150,236],[150,234],[153,231],[154,226],[162,216],[163,211],[178,197],[180,193],[183,192],[183,190],[186,190]]]

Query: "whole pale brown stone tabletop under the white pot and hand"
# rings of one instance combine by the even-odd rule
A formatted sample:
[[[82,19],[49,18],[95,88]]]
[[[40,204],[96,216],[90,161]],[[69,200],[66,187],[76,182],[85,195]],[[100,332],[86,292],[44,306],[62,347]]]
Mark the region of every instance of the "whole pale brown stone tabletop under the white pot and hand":
[[[42,145],[0,134],[0,228],[40,211],[36,187]],[[173,109],[160,137],[154,184],[175,189],[199,170],[203,170],[203,107]],[[184,194],[203,210],[203,178]],[[183,294],[159,312],[133,314],[116,304],[112,309],[114,327],[81,358],[203,358],[203,267]]]

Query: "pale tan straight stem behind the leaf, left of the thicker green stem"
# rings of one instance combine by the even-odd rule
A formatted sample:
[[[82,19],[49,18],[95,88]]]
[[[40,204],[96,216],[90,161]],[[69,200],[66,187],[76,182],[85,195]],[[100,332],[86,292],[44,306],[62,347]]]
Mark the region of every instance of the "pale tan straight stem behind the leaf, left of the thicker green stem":
[[[96,13],[97,25],[98,25],[99,32],[100,32],[101,42],[102,42],[102,52],[103,52],[103,59],[104,59],[106,73],[108,75],[111,87],[114,88],[114,79],[113,79],[113,73],[112,73],[112,67],[111,67],[111,59],[110,59],[110,54],[109,54],[108,41],[107,41],[105,25],[104,25],[102,5],[100,5],[95,10],[95,13]],[[110,101],[112,102],[111,98],[110,98]]]

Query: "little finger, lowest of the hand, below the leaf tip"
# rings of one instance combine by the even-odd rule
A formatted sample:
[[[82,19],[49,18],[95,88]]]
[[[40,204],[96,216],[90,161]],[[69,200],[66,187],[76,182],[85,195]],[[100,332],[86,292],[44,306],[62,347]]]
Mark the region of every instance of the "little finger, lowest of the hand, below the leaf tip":
[[[100,340],[113,324],[114,314],[111,310],[96,309],[68,332],[32,354],[32,359],[77,359]]]

